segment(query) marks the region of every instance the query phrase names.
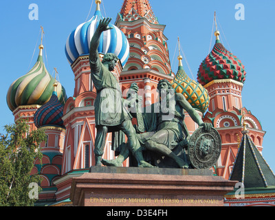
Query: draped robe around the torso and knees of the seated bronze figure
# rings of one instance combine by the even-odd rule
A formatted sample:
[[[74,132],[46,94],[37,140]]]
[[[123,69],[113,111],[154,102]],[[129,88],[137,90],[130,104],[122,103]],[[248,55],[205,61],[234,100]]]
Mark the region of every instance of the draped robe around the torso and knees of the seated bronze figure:
[[[146,133],[137,134],[137,138],[145,150],[146,161],[159,167],[177,167],[173,159],[146,151],[144,147],[146,141],[152,140],[157,144],[164,144],[181,159],[186,159],[185,151],[179,143],[189,134],[184,123],[184,110],[177,104],[175,96],[170,98],[168,109],[162,109],[160,102],[145,107],[143,118]]]

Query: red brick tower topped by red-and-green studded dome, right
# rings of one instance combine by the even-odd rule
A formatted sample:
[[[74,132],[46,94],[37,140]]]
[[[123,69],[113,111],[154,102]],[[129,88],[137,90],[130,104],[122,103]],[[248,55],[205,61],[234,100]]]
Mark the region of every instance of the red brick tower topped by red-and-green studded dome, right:
[[[246,77],[245,67],[239,58],[225,49],[218,30],[214,36],[216,42],[199,66],[197,80],[208,89],[210,96],[209,109],[203,121],[212,123],[221,135],[222,149],[216,166],[217,174],[228,179],[241,142],[243,121],[259,151],[263,149],[265,131],[251,111],[243,107],[241,91]]]

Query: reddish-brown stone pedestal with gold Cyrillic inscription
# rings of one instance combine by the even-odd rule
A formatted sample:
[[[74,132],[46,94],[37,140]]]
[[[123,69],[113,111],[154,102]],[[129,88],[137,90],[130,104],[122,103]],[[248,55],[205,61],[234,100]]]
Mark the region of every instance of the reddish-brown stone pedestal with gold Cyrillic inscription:
[[[74,206],[223,206],[236,181],[212,170],[93,166],[72,180]]]

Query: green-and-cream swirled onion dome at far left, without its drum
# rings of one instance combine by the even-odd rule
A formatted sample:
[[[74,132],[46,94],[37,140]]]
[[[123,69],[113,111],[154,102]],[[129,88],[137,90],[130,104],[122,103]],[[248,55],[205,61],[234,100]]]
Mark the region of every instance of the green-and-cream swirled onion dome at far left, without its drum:
[[[23,105],[45,104],[52,96],[55,79],[47,72],[43,63],[43,45],[40,45],[39,49],[39,57],[30,72],[10,85],[7,103],[11,111]],[[58,83],[56,91],[58,100],[65,102],[67,99],[66,91],[60,83]]]

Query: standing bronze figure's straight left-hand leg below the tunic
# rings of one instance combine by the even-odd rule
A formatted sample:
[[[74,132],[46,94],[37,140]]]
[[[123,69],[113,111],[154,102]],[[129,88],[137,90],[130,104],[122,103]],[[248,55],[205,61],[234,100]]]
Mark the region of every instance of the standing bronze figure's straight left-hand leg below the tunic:
[[[101,158],[104,153],[104,146],[106,143],[108,128],[107,126],[98,126],[95,140],[95,158],[96,158],[96,166],[101,166]]]

